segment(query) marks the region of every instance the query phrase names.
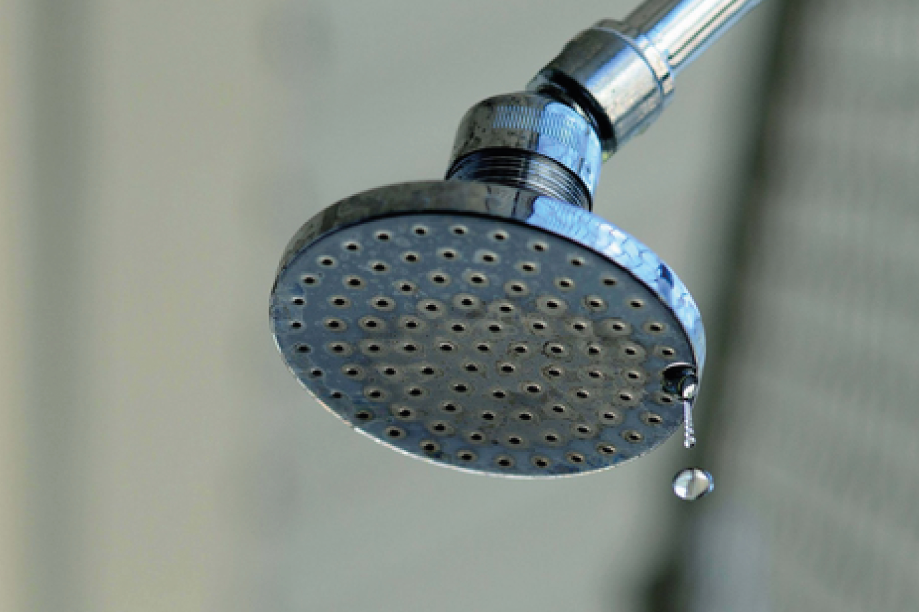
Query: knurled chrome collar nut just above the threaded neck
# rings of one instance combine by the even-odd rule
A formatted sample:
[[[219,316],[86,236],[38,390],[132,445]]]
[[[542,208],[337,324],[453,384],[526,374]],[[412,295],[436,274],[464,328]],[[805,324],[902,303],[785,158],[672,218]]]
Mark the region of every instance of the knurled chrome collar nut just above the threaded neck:
[[[455,172],[459,161],[482,150],[517,150],[548,158],[582,184],[575,191],[584,192],[588,203],[603,163],[600,140],[586,118],[548,95],[528,92],[497,95],[471,108],[459,124],[448,176],[459,178]],[[529,158],[520,155],[516,159]],[[526,182],[514,185],[526,187]]]

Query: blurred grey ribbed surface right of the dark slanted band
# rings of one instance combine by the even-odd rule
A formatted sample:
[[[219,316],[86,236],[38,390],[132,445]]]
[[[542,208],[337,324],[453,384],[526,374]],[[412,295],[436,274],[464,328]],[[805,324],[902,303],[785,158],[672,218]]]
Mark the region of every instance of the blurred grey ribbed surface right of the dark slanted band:
[[[912,610],[919,5],[790,4],[682,574],[693,610]]]

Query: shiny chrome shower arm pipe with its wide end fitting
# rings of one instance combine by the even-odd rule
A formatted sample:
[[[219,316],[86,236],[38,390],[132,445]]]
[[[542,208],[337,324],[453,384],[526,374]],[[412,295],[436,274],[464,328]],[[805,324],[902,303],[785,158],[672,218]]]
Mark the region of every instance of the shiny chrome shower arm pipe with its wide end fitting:
[[[569,42],[528,85],[556,95],[596,128],[603,159],[641,134],[674,93],[675,76],[760,0],[647,0]]]

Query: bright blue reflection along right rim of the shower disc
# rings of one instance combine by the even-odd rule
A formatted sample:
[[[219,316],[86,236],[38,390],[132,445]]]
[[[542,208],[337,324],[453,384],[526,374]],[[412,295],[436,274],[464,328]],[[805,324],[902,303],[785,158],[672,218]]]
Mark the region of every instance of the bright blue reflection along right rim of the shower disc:
[[[692,342],[699,373],[705,366],[705,328],[686,285],[654,251],[606,219],[548,197],[533,203],[529,225],[573,239],[615,261],[647,285],[674,313]]]

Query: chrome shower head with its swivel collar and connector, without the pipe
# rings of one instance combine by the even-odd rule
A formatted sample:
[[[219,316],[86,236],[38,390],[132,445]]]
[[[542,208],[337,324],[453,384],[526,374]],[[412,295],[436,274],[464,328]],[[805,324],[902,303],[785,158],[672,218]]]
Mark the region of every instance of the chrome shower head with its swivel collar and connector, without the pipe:
[[[353,195],[290,241],[278,349],[358,431],[467,471],[550,477],[639,457],[684,423],[681,381],[697,385],[705,360],[698,308],[589,211],[603,159],[672,85],[638,30],[609,24],[527,92],[473,106],[447,180]]]

